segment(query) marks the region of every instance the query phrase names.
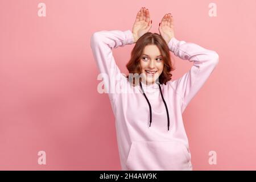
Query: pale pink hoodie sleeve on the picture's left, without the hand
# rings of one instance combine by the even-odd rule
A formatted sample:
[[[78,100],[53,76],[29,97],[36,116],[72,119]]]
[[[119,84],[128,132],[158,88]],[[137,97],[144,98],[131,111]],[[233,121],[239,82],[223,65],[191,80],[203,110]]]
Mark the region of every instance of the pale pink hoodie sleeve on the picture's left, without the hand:
[[[104,88],[106,88],[106,92],[109,93],[110,100],[114,100],[115,98],[116,78],[121,76],[121,72],[115,63],[112,49],[133,43],[134,38],[130,30],[104,30],[94,32],[91,36],[90,47],[92,48],[97,67],[102,74],[102,77],[104,77]],[[108,77],[108,80],[105,79],[106,76]]]

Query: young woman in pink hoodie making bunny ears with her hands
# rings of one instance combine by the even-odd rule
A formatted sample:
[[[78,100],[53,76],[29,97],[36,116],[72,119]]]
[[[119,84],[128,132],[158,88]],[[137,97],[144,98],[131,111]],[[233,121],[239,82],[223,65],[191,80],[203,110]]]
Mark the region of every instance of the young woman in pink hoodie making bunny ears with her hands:
[[[164,15],[160,35],[152,34],[148,32],[150,14],[142,8],[133,31],[92,35],[94,59],[100,73],[109,78],[104,79],[104,86],[115,116],[122,170],[192,170],[182,113],[218,64],[218,54],[177,40],[173,22],[170,14]],[[121,74],[112,49],[134,43],[126,65],[129,77]],[[169,51],[193,62],[192,68],[174,81]]]

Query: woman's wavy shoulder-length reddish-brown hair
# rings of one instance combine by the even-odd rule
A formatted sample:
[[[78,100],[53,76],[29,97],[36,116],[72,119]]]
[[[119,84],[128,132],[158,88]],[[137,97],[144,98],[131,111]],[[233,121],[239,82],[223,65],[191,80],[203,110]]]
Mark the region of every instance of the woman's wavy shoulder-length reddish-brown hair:
[[[153,34],[151,32],[147,32],[146,34],[142,35],[141,38],[137,40],[133,50],[131,51],[131,58],[126,64],[126,68],[129,71],[129,74],[126,76],[126,78],[129,78],[130,74],[135,74],[136,76],[132,77],[132,79],[129,79],[129,81],[133,86],[136,86],[138,84],[138,79],[136,79],[136,77],[141,75],[141,66],[139,65],[139,62],[142,59],[144,47],[148,45],[157,46],[162,54],[164,67],[163,72],[159,76],[158,80],[160,84],[166,85],[167,81],[170,81],[172,79],[171,71],[174,71],[175,68],[172,65],[171,55],[166,41],[162,38],[161,35],[156,33]]]

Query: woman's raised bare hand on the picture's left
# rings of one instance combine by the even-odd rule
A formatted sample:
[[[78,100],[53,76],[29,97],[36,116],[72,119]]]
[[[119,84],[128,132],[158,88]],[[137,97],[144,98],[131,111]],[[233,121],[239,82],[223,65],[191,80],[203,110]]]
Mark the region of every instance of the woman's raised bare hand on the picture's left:
[[[150,20],[150,13],[148,9],[142,7],[137,13],[135,22],[133,24],[134,43],[144,34],[146,34],[152,27],[152,20]]]

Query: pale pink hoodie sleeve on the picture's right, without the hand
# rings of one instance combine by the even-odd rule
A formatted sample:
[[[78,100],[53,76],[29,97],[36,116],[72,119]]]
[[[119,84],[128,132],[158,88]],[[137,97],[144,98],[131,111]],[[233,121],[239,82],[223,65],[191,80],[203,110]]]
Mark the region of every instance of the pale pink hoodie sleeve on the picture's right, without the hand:
[[[181,113],[207,81],[210,74],[218,64],[218,54],[205,49],[195,43],[187,43],[172,38],[168,43],[170,51],[180,59],[193,62],[192,68],[177,80],[168,82],[176,93],[182,98]]]

